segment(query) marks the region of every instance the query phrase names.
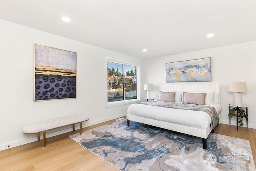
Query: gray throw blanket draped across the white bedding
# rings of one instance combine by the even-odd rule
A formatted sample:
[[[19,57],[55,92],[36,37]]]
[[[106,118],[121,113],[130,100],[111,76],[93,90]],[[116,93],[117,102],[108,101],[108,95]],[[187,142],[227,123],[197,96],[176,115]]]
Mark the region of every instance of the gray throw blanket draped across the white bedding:
[[[211,129],[214,129],[214,127],[218,123],[218,113],[214,107],[211,106],[204,106],[204,105],[193,105],[193,104],[184,104],[184,103],[166,103],[162,101],[147,101],[147,102],[141,102],[138,104],[144,104],[144,105],[153,105],[158,107],[168,107],[173,109],[184,109],[184,110],[194,110],[194,111],[204,111],[208,113],[212,119],[211,122]]]

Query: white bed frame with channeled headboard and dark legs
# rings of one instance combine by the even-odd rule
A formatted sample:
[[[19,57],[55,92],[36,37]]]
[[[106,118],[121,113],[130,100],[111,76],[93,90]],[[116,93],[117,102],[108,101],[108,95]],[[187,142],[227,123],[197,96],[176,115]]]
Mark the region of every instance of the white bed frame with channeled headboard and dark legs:
[[[159,90],[165,90],[165,91],[186,91],[186,92],[209,92],[214,91],[214,103],[220,104],[220,85],[212,85],[212,84],[205,84],[205,85],[181,85],[181,84],[168,84],[168,85],[160,85]],[[139,117],[130,115],[127,113],[127,125],[130,126],[130,120],[137,121],[140,123],[145,123],[148,125],[169,129],[172,131],[185,133],[188,135],[193,135],[196,137],[202,138],[203,141],[203,148],[207,149],[206,145],[206,138],[210,134],[210,132],[213,130],[210,128],[210,125],[207,127],[207,129],[198,129],[193,127],[187,127],[184,125],[178,125],[174,123],[164,122],[164,121],[157,121],[154,119],[148,119],[145,117]]]

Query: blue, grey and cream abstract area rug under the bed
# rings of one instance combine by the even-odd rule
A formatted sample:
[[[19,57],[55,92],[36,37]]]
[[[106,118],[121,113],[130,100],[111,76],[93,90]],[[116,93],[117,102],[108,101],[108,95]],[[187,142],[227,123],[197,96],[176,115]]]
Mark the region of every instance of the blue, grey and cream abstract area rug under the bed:
[[[122,171],[255,170],[248,140],[210,133],[202,139],[127,120],[70,138]]]

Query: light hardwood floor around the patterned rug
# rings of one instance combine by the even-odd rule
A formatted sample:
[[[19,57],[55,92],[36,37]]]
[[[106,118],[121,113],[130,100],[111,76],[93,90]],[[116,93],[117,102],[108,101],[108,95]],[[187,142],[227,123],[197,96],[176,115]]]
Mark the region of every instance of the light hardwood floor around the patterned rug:
[[[83,128],[92,129],[101,125],[112,123],[114,120]],[[115,167],[94,155],[82,145],[68,137],[79,130],[64,133],[46,139],[46,147],[42,141],[36,141],[0,151],[1,171],[118,171]],[[256,163],[256,129],[219,124],[214,133],[247,139],[250,141],[254,163]],[[47,135],[46,135],[47,136]]]

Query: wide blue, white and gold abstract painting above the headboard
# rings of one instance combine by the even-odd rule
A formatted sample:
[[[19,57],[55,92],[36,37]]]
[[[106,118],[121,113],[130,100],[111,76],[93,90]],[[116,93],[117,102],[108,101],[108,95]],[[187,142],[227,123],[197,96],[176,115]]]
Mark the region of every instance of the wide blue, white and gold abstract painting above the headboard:
[[[211,57],[166,63],[166,82],[210,82]]]

